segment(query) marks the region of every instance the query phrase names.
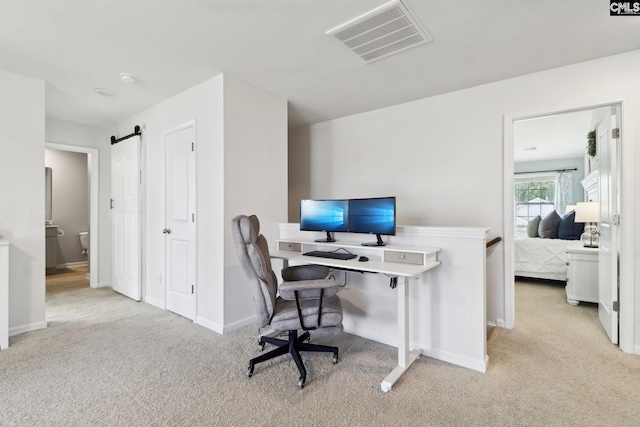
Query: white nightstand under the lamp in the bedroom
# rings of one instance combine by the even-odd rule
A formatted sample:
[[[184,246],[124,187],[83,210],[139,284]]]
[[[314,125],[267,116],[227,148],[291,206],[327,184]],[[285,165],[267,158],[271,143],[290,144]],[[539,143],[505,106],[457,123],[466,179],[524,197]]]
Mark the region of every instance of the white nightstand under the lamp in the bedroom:
[[[567,302],[598,302],[598,248],[567,248]]]

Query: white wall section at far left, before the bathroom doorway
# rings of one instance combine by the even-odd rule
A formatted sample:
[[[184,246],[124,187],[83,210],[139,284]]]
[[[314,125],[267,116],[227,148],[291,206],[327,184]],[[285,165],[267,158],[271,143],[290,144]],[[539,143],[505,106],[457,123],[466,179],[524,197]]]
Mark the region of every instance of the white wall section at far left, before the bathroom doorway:
[[[0,70],[0,238],[9,248],[9,334],[46,327],[44,81]]]

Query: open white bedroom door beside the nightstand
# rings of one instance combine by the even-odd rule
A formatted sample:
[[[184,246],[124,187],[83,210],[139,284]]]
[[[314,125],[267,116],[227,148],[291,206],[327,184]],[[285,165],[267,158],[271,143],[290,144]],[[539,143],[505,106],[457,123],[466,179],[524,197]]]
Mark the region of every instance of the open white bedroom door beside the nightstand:
[[[598,155],[600,163],[600,254],[598,317],[613,344],[618,343],[618,138],[620,107],[611,107],[611,121],[598,126]]]

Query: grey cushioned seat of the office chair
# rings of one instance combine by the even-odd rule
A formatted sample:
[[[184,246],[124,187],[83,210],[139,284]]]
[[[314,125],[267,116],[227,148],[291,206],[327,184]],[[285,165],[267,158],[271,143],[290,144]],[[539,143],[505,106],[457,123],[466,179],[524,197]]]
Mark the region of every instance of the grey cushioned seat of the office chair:
[[[305,328],[318,326],[318,299],[300,299],[300,310],[304,325],[300,324],[295,301],[288,301],[282,298],[276,299],[276,308],[271,319],[271,326],[278,331],[303,329],[303,326]],[[330,296],[322,299],[322,316],[320,319],[320,327],[322,328],[342,326],[342,305],[339,297]],[[342,332],[342,328],[326,332],[328,335],[332,335],[333,333]]]

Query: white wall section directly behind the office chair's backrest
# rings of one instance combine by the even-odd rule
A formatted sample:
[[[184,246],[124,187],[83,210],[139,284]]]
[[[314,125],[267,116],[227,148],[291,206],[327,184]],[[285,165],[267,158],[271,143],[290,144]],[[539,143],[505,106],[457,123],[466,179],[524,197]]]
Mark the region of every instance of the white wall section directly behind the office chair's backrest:
[[[255,214],[268,242],[287,220],[287,101],[225,78],[223,225],[225,329],[253,321],[253,290],[240,267],[231,219]],[[222,235],[222,234],[221,234]]]

